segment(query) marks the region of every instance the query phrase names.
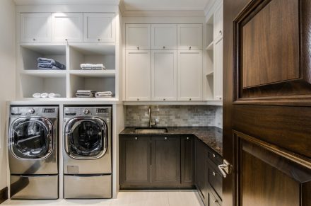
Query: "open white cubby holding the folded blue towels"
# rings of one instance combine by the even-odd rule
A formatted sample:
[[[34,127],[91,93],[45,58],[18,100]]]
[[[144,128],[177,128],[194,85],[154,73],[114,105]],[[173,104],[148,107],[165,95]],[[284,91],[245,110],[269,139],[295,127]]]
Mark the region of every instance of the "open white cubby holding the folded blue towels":
[[[66,46],[64,45],[20,45],[20,63],[18,69],[38,70],[37,58],[54,59],[66,65]],[[42,70],[40,70],[42,71]],[[59,70],[52,70],[59,71]]]

